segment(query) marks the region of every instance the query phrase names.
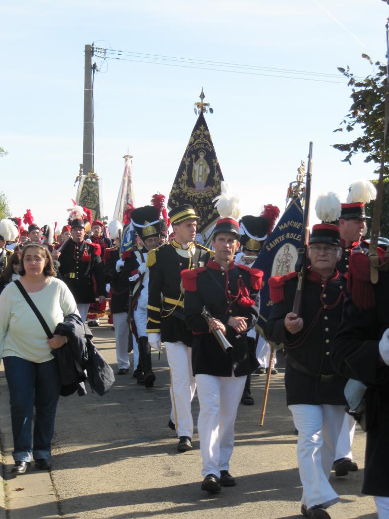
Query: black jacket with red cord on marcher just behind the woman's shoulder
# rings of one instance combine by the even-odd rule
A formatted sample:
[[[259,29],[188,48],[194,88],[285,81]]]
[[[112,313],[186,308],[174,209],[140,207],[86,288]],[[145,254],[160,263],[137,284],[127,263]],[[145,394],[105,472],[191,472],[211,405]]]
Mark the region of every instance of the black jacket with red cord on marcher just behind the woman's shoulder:
[[[93,279],[98,295],[106,296],[100,247],[87,241],[69,240],[61,251],[60,274],[76,303],[93,303]]]

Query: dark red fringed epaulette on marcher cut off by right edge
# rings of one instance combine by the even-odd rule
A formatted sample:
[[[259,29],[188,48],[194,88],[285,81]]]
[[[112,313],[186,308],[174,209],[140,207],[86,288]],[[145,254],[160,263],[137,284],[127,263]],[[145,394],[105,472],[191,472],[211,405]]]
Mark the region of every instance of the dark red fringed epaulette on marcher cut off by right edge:
[[[367,310],[376,304],[373,285],[370,281],[370,259],[363,252],[355,252],[349,258],[347,290],[354,305]]]

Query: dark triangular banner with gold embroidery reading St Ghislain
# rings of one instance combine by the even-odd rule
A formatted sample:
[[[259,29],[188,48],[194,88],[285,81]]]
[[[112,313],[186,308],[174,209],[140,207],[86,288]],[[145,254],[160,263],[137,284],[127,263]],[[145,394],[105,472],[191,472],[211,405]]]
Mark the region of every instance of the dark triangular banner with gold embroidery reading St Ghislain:
[[[198,233],[203,236],[219,214],[212,200],[220,195],[224,180],[213,147],[210,131],[201,112],[193,128],[184,156],[179,165],[168,207],[173,209],[189,203],[199,217]]]

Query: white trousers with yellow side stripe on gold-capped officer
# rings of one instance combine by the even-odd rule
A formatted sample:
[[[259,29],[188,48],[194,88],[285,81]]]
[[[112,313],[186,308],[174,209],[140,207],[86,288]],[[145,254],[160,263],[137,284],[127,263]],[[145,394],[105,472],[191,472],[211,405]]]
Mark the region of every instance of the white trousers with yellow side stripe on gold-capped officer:
[[[192,350],[184,343],[165,342],[170,367],[171,420],[176,426],[177,436],[193,436],[191,402],[195,396],[196,381],[192,371]]]

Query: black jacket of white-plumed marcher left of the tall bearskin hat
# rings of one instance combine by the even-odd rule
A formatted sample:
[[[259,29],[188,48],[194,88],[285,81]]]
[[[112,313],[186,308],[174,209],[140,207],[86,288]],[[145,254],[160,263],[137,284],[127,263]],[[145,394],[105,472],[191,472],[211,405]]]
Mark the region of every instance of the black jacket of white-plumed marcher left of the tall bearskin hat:
[[[128,312],[129,303],[129,276],[122,269],[116,271],[116,262],[119,260],[119,250],[117,247],[105,249],[104,253],[104,278],[106,283],[110,283],[112,294],[110,302],[111,313]],[[123,275],[124,274],[124,275]]]

